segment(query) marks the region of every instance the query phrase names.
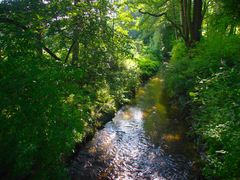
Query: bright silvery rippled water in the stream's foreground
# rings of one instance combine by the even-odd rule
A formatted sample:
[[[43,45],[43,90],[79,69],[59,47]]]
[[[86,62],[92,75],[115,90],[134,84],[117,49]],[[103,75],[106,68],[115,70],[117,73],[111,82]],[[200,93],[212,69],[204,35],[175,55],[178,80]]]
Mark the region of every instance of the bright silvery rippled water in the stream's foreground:
[[[190,161],[146,136],[140,108],[120,110],[72,163],[72,179],[189,179]]]

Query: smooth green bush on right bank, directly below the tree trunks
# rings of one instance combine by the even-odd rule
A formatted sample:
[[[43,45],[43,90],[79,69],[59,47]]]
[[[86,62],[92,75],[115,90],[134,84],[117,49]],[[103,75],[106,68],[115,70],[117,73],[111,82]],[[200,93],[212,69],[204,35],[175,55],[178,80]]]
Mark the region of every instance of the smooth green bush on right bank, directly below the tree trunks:
[[[211,76],[223,66],[231,68],[239,64],[239,43],[236,36],[216,33],[191,50],[187,50],[183,42],[177,42],[166,74],[170,96],[187,96],[198,80]]]

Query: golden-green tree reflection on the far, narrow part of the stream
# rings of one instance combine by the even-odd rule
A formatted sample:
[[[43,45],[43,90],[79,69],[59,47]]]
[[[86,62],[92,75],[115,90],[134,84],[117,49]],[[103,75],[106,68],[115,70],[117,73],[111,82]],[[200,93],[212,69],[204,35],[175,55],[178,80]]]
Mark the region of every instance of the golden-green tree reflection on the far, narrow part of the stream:
[[[163,82],[159,77],[152,78],[136,97],[137,105],[144,112],[145,132],[156,144],[159,144],[161,135],[169,124],[163,98]]]

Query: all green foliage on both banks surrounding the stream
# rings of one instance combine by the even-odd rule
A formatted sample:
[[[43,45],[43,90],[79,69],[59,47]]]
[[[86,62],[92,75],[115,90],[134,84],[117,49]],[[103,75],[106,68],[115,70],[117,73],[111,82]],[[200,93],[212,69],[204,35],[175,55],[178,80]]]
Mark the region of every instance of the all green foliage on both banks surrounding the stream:
[[[68,178],[76,144],[161,65],[170,102],[197,134],[204,176],[239,179],[239,6],[0,1],[0,179]]]

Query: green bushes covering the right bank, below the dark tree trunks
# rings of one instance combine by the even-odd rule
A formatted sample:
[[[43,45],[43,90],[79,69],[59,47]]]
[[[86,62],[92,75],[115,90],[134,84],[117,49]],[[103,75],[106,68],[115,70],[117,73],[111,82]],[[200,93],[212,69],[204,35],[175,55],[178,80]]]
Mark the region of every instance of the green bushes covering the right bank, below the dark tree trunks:
[[[239,37],[217,33],[191,50],[178,42],[166,70],[170,96],[191,105],[193,124],[207,145],[209,179],[240,177],[239,44]]]

